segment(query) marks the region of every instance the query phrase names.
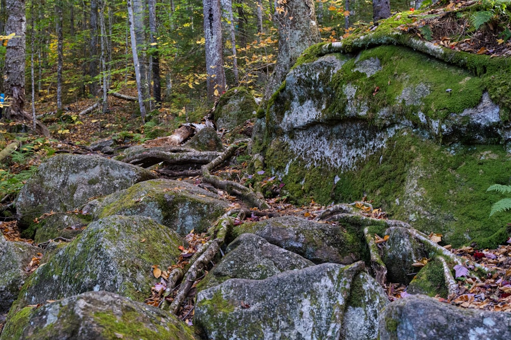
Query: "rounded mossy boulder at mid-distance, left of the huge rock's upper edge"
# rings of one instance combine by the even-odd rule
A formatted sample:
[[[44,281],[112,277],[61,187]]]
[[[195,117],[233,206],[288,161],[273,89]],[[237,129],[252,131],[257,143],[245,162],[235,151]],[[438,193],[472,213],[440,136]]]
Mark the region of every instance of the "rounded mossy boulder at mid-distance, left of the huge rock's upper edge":
[[[254,116],[257,104],[244,87],[235,87],[223,94],[215,109],[214,120],[218,129],[230,130]]]

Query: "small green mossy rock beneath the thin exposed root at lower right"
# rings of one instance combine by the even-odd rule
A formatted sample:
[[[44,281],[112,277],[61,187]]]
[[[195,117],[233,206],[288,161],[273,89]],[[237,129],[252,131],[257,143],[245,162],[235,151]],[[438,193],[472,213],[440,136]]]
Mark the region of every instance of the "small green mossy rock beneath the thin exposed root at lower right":
[[[423,267],[410,282],[408,293],[424,294],[431,297],[439,295],[447,298],[447,286],[442,263],[434,260]]]

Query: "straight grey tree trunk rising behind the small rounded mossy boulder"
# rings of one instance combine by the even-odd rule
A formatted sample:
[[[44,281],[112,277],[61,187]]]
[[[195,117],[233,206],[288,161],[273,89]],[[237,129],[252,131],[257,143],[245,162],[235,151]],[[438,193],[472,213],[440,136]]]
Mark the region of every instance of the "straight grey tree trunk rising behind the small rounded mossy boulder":
[[[213,101],[225,91],[220,1],[203,0],[203,13],[207,72],[207,99]]]

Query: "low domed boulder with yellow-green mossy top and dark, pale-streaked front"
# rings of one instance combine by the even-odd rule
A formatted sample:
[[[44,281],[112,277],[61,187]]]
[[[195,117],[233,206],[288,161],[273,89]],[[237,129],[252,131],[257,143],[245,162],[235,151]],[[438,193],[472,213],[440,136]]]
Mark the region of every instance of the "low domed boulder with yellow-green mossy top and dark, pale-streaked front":
[[[229,203],[210,191],[185,181],[154,179],[135,184],[103,199],[94,218],[110,215],[141,215],[180,234],[203,232]]]

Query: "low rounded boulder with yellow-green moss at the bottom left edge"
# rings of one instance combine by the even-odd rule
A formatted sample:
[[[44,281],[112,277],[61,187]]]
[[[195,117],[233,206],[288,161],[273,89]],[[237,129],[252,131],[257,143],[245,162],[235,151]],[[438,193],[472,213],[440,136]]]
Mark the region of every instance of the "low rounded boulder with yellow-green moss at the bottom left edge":
[[[193,340],[193,330],[160,308],[109,292],[87,292],[37,309],[22,339]]]

